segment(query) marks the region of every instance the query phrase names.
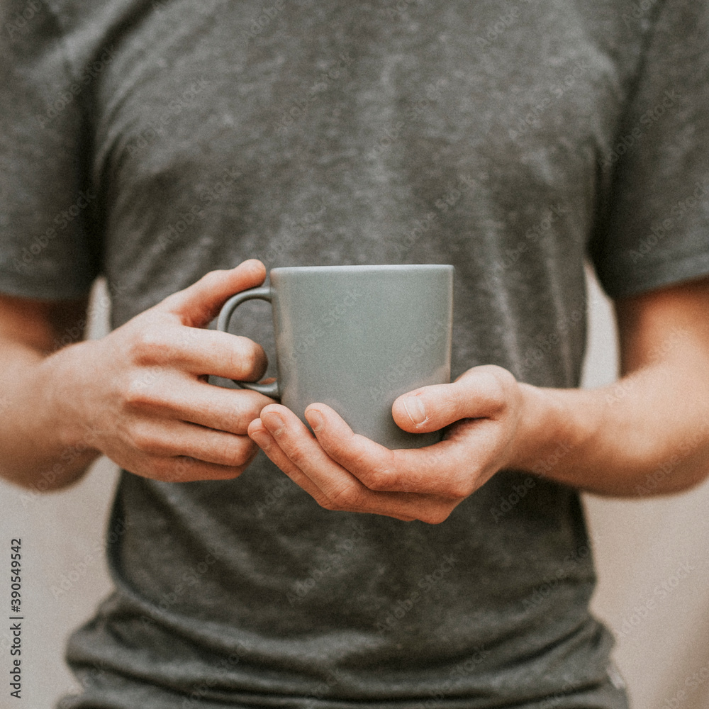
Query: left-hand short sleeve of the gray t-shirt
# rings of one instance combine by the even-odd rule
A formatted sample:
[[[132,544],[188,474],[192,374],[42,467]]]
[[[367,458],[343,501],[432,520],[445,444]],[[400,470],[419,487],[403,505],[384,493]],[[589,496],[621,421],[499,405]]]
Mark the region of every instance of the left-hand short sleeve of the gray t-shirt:
[[[4,2],[0,27],[0,292],[77,298],[98,269],[85,86],[47,4]]]

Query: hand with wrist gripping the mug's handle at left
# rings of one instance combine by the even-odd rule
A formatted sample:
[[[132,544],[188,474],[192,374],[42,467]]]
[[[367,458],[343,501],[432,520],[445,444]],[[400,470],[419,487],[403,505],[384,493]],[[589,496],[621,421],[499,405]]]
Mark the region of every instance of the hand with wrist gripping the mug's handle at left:
[[[99,452],[133,473],[164,481],[240,475],[258,451],[246,435],[248,425],[272,399],[206,379],[213,374],[255,381],[267,359],[252,340],[204,328],[230,296],[264,277],[263,264],[255,260],[208,273],[106,337],[38,359],[26,396],[16,390],[9,401],[22,420],[31,417],[28,398],[41,394],[43,435],[31,440],[38,420],[24,428],[2,426],[0,437],[15,440],[13,459],[3,457],[0,465],[16,473],[5,476],[28,484],[28,464],[39,464],[41,476],[42,468],[56,470],[58,462],[52,486],[59,487]],[[18,435],[25,440],[18,442]]]

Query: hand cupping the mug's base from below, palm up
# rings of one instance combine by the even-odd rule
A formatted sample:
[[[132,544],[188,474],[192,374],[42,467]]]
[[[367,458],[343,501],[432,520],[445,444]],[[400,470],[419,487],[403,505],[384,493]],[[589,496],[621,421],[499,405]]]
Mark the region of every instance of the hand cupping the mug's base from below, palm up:
[[[323,403],[305,415],[315,435],[285,406],[270,404],[248,434],[267,456],[328,510],[437,524],[515,458],[524,388],[506,369],[474,367],[452,384],[425,386],[393,403],[398,426],[446,428],[423,448],[389,450],[357,435]]]

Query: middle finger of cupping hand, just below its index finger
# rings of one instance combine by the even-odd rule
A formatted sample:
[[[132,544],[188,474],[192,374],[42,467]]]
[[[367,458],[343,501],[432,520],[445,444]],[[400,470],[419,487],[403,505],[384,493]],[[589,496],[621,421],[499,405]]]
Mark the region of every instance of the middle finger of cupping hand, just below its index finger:
[[[438,500],[428,500],[425,496],[415,493],[379,492],[368,489],[345,467],[331,459],[298,417],[284,406],[277,404],[267,406],[261,412],[260,420],[277,449],[324,494],[324,502],[321,501],[320,496],[316,497],[316,501],[323,507],[389,515],[400,519],[426,518],[426,521],[429,521],[428,518],[438,520],[440,517],[440,513],[432,510],[433,506],[440,505]],[[266,454],[269,457],[274,455],[274,458],[281,460],[279,452],[274,450],[274,445],[266,451]],[[288,473],[287,470],[284,472]]]

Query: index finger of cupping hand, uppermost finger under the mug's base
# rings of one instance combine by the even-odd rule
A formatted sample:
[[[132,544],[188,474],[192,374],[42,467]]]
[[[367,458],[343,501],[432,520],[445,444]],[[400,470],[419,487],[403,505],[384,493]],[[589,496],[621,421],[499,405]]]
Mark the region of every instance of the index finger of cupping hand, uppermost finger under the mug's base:
[[[325,404],[311,404],[306,418],[323,451],[350,471],[372,491],[410,492],[433,495],[442,500],[462,500],[479,486],[476,462],[470,450],[485,458],[484,432],[479,445],[461,445],[459,435],[422,448],[389,450],[367,437],[357,435],[344,420]],[[467,429],[482,428],[467,422]]]

